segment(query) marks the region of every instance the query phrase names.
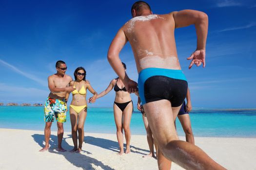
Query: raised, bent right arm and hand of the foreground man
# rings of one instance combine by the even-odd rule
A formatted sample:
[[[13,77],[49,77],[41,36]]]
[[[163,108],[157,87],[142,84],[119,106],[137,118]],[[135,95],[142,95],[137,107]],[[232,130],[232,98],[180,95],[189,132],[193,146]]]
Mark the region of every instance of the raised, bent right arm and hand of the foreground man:
[[[175,20],[175,28],[186,27],[189,25],[195,25],[197,33],[197,49],[188,57],[191,60],[189,69],[195,64],[200,66],[203,64],[205,67],[205,47],[208,33],[208,16],[200,11],[195,10],[182,10],[179,12],[172,12]]]

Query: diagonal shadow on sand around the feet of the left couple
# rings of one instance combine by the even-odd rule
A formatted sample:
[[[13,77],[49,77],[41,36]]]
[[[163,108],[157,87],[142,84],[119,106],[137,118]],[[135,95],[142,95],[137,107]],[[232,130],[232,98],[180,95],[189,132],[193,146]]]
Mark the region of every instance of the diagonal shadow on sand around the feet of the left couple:
[[[44,147],[44,145],[43,145],[44,135],[34,134],[34,135],[32,135],[32,137],[41,147]],[[62,147],[69,151],[69,150],[73,149],[73,146],[70,146],[66,142],[67,138],[70,138],[70,136],[66,137],[66,138],[63,137]],[[70,163],[72,163],[74,166],[76,166],[78,168],[82,168],[85,170],[91,170],[91,169],[94,170],[95,168],[92,165],[92,164],[94,164],[95,166],[100,166],[103,170],[114,170],[114,169],[110,168],[109,166],[104,165],[102,162],[98,161],[97,159],[91,158],[84,154],[70,153],[70,152],[62,153],[62,152],[57,152],[57,151],[53,150],[58,147],[58,137],[55,135],[51,135],[49,144],[51,145],[51,147],[49,149],[50,153],[56,153],[56,154],[63,155]],[[88,154],[91,154],[91,153],[88,153]]]

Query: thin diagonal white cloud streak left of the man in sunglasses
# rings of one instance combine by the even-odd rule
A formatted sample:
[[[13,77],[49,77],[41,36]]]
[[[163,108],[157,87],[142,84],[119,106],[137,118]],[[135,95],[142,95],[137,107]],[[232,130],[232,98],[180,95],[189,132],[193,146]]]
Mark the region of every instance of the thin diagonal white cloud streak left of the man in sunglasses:
[[[9,64],[9,63],[7,63],[7,62],[1,60],[1,59],[0,59],[0,63],[1,63],[2,65],[6,66],[7,68],[10,68],[11,70],[13,70],[13,71],[19,73],[20,75],[22,75],[22,76],[24,76],[24,77],[27,77],[27,78],[29,78],[29,79],[31,79],[31,80],[33,80],[33,81],[39,83],[40,85],[47,86],[47,82],[46,82],[46,81],[41,80],[41,79],[35,77],[34,75],[31,75],[31,74],[29,74],[29,73],[26,73],[26,72],[24,72],[24,71],[21,71],[20,69],[16,68],[15,66],[13,66],[13,65],[11,65],[11,64]]]

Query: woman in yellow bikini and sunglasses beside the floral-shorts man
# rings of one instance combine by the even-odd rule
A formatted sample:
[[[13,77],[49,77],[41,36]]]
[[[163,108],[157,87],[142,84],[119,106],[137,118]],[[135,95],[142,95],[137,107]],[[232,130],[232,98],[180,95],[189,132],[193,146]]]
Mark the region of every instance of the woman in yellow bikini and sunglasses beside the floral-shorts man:
[[[70,86],[73,86],[76,89],[72,91],[73,99],[70,104],[69,111],[74,149],[70,152],[79,153],[82,150],[82,142],[84,138],[83,126],[87,115],[86,90],[88,89],[92,94],[94,94],[90,102],[95,102],[97,98],[97,92],[88,82],[85,81],[86,71],[84,68],[77,68],[74,72],[74,76],[75,81],[70,82]]]

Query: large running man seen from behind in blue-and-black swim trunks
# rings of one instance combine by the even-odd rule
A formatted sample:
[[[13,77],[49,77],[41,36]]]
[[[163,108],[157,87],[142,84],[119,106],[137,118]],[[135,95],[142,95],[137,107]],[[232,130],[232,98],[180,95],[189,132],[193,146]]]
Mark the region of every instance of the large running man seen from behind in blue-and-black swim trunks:
[[[177,58],[174,31],[195,25],[197,49],[188,57],[192,59],[189,68],[194,64],[205,67],[208,16],[194,10],[153,15],[146,2],[138,1],[132,6],[132,17],[113,39],[108,61],[128,92],[138,90],[160,151],[167,159],[187,170],[223,170],[197,146],[179,140],[174,125],[188,88]],[[134,53],[138,84],[129,79],[119,58],[119,52],[127,41]],[[162,164],[158,165],[161,169]]]

